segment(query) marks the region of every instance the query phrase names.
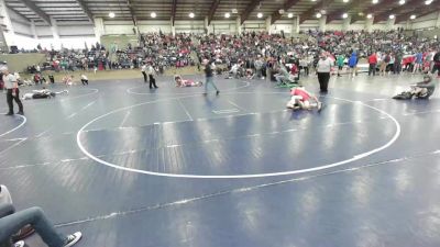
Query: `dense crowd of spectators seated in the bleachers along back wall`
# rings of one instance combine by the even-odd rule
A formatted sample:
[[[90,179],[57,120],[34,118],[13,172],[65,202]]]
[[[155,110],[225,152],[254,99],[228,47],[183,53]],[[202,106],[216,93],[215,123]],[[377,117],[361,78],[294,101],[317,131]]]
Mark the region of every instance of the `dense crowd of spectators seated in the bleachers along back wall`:
[[[440,48],[436,38],[407,34],[404,30],[350,32],[308,31],[297,37],[266,32],[244,32],[239,35],[227,34],[176,34],[147,33],[140,36],[139,44],[111,44],[105,47],[97,43],[82,50],[46,50],[47,61],[40,65],[41,70],[79,69],[124,69],[140,68],[151,64],[162,72],[169,67],[200,65],[204,58],[210,58],[219,70],[231,70],[239,65],[239,71],[255,71],[255,61],[263,70],[295,64],[298,71],[306,75],[316,67],[319,54],[326,50],[333,60],[343,58],[346,65],[353,53],[358,61],[367,64],[373,53],[377,56],[377,69],[386,60],[386,71],[414,71],[432,66],[436,52]],[[41,47],[38,50],[42,52]],[[419,58],[421,66],[416,66]],[[262,63],[262,64],[261,64]],[[367,66],[367,65],[366,65]],[[235,67],[237,68],[237,67]],[[258,68],[260,69],[260,68]],[[35,72],[35,66],[29,68]]]

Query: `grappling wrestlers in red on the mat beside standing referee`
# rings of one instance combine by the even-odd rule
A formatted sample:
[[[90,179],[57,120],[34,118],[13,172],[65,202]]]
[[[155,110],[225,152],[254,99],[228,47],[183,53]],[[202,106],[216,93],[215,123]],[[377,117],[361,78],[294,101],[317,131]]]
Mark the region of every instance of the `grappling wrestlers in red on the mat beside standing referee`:
[[[287,102],[287,108],[293,110],[312,110],[314,108],[321,111],[322,103],[318,98],[310,92],[308,92],[304,87],[292,88],[290,89],[292,99]],[[311,103],[310,99],[315,102]]]

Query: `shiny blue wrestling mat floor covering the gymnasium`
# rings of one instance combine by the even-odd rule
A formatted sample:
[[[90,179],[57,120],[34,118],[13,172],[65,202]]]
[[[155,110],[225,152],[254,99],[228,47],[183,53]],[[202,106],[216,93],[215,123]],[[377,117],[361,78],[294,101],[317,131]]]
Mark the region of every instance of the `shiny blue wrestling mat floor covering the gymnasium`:
[[[268,81],[91,81],[0,115],[0,183],[78,247],[439,246],[439,94],[391,100],[421,79],[332,77],[321,113]]]

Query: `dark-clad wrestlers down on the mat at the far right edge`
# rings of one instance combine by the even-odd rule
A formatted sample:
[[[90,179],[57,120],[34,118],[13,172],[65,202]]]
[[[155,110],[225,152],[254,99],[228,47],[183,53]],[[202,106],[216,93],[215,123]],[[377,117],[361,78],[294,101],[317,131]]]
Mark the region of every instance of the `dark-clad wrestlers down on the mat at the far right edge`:
[[[432,80],[431,75],[424,76],[424,81],[411,85],[409,91],[404,91],[393,99],[395,100],[410,100],[413,97],[417,99],[429,99],[436,91],[436,82]]]

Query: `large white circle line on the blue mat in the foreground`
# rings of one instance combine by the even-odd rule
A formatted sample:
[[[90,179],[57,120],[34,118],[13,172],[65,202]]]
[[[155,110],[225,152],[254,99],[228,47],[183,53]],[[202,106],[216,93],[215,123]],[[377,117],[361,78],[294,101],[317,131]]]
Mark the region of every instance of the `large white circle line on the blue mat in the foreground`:
[[[238,93],[238,92],[235,92],[235,93]],[[285,94],[285,92],[274,92],[274,93],[283,93],[283,94]],[[342,161],[339,161],[339,162],[333,162],[333,164],[323,165],[323,166],[314,167],[314,168],[299,169],[299,170],[290,170],[290,171],[282,171],[282,172],[253,173],[253,175],[231,175],[231,176],[177,175],[177,173],[154,172],[154,171],[146,171],[146,170],[141,170],[141,169],[121,167],[121,166],[118,166],[118,165],[108,162],[108,161],[106,161],[106,160],[102,160],[102,159],[100,159],[100,158],[98,158],[98,157],[91,155],[91,154],[82,146],[81,138],[80,138],[80,137],[81,137],[81,133],[82,133],[82,131],[86,130],[90,124],[92,124],[92,123],[95,123],[96,121],[101,120],[101,119],[103,119],[103,117],[106,117],[106,116],[108,116],[108,115],[111,115],[111,114],[114,114],[114,113],[117,113],[117,112],[120,112],[120,111],[124,111],[124,110],[132,109],[132,108],[135,108],[135,106],[144,105],[144,104],[151,104],[151,103],[158,102],[158,100],[155,100],[155,101],[148,101],[148,102],[140,103],[140,104],[134,104],[134,105],[131,105],[131,106],[125,106],[125,108],[117,109],[117,110],[110,111],[110,112],[108,112],[108,113],[106,113],[106,114],[103,114],[103,115],[100,115],[100,116],[95,117],[94,120],[91,120],[90,122],[88,122],[86,125],[84,125],[84,126],[78,131],[77,136],[76,136],[76,142],[77,142],[77,145],[78,145],[79,149],[80,149],[86,156],[88,156],[89,158],[94,159],[95,161],[97,161],[97,162],[99,162],[99,164],[101,164],[101,165],[105,165],[105,166],[108,166],[108,167],[112,167],[112,168],[119,169],[119,170],[131,171],[131,172],[138,172],[138,173],[143,173],[143,175],[160,176],[160,177],[169,177],[169,178],[194,178],[194,179],[248,179],[248,178],[264,178],[264,177],[277,177],[277,176],[287,176],[287,175],[298,175],[298,173],[306,173],[306,172],[310,172],[310,171],[318,171],[318,170],[324,170],[324,169],[329,169],[329,168],[333,168],[333,167],[339,167],[339,166],[342,166],[342,165],[345,165],[345,164],[350,164],[350,162],[353,162],[353,161],[355,161],[355,160],[365,158],[365,157],[371,156],[371,155],[373,155],[373,154],[376,154],[376,153],[378,153],[378,151],[382,151],[382,150],[388,148],[391,145],[393,145],[393,144],[397,141],[397,138],[400,136],[400,132],[402,132],[400,124],[399,124],[398,121],[397,121],[393,115],[391,115],[389,113],[387,113],[387,112],[385,112],[385,111],[383,111],[383,110],[381,110],[381,109],[377,109],[377,108],[371,106],[371,105],[369,105],[369,104],[365,104],[365,103],[363,103],[363,102],[352,101],[352,100],[346,100],[346,99],[341,99],[341,98],[333,98],[333,99],[340,100],[340,101],[345,101],[345,102],[352,102],[352,103],[361,104],[361,105],[363,105],[363,106],[365,106],[365,108],[370,108],[370,109],[372,109],[373,111],[376,111],[376,112],[378,112],[378,113],[382,113],[382,114],[388,116],[388,117],[394,122],[394,124],[395,124],[395,126],[396,126],[396,132],[395,132],[393,138],[392,138],[389,142],[387,142],[385,145],[381,146],[381,147],[377,147],[377,148],[375,148],[375,149],[373,149],[373,150],[370,150],[370,151],[365,151],[365,153],[355,155],[354,157],[352,157],[352,158],[350,158],[350,159],[345,159],[345,160],[342,160]],[[358,157],[356,157],[356,156],[358,156]]]

